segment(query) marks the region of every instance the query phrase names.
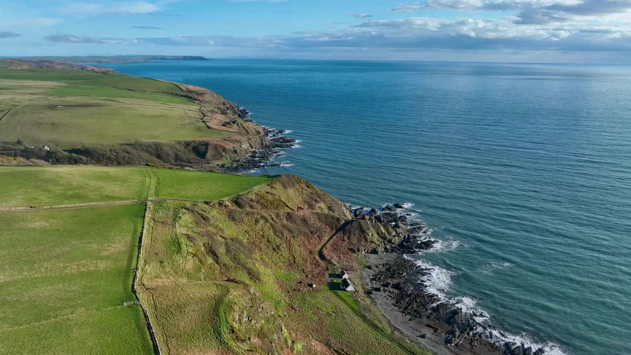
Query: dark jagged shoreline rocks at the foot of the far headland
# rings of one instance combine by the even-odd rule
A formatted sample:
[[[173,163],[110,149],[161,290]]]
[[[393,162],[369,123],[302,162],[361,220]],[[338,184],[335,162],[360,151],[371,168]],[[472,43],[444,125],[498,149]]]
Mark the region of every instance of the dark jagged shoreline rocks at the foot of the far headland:
[[[251,119],[251,112],[247,111],[244,107],[239,106],[239,116],[243,117],[245,122],[255,123]],[[282,150],[295,148],[297,140],[285,136],[285,134],[288,133],[285,129],[261,127],[263,134],[268,138],[268,143],[264,144],[259,149],[251,150],[249,155],[243,159],[232,161],[229,164],[222,164],[220,166],[222,172],[249,172],[256,169],[280,167],[281,163],[271,162],[271,160],[274,159],[274,157],[282,156]]]

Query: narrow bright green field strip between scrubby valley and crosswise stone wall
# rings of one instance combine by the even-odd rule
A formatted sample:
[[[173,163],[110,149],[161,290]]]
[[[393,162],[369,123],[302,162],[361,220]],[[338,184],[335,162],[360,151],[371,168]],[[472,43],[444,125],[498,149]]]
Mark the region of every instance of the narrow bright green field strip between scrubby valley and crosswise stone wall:
[[[151,197],[181,200],[218,200],[271,179],[150,167],[0,167],[0,208],[145,199],[149,178],[158,186]]]

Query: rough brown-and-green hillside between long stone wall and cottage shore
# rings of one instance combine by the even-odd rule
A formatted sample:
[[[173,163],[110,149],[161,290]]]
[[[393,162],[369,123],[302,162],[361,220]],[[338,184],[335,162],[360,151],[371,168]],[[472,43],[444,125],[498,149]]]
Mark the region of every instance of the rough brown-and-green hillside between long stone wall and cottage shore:
[[[291,175],[218,202],[155,204],[139,290],[158,342],[170,354],[398,354],[326,289],[317,254],[339,236],[327,257],[354,273],[357,252],[396,243],[374,223]]]

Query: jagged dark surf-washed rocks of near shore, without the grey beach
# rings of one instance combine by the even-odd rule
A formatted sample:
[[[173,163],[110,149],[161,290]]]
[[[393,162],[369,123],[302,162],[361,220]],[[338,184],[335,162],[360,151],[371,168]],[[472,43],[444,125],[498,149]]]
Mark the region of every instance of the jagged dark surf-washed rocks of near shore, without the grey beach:
[[[359,210],[359,211],[358,211]],[[385,263],[370,267],[368,285],[372,292],[379,292],[392,306],[405,316],[425,323],[425,327],[444,340],[444,345],[456,349],[454,354],[498,354],[498,355],[543,355],[543,347],[533,347],[514,342],[505,342],[492,335],[486,323],[488,318],[481,311],[470,311],[457,299],[448,299],[433,292],[431,280],[435,270],[417,265],[404,255],[430,250],[440,243],[428,237],[429,229],[423,222],[408,223],[404,205],[395,204],[372,209],[368,214],[364,208],[353,210],[358,220],[373,221],[385,227],[396,238],[395,243],[384,243],[374,253],[386,253]],[[386,296],[383,296],[383,295]],[[392,308],[392,306],[390,308]],[[387,311],[387,310],[386,310]]]

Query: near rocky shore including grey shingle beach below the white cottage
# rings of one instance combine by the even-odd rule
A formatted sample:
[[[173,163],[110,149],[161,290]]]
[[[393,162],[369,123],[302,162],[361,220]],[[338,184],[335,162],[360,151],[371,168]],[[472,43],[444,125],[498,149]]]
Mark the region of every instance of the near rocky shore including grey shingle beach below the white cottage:
[[[363,270],[365,289],[392,328],[437,355],[544,355],[543,347],[502,339],[502,332],[484,322],[488,315],[462,299],[434,292],[432,269],[406,257],[440,243],[423,222],[411,221],[404,204],[384,208],[354,208],[355,219],[374,219],[392,227],[400,242],[371,250]],[[498,336],[499,333],[499,336]]]

